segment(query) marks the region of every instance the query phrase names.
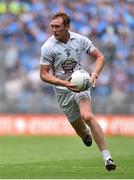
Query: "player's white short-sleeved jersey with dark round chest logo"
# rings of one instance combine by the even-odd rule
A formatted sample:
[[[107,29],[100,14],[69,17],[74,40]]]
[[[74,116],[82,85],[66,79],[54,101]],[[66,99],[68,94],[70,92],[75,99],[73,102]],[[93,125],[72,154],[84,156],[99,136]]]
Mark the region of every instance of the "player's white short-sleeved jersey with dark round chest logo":
[[[92,42],[78,34],[69,31],[70,39],[67,43],[60,42],[52,35],[41,47],[40,64],[52,65],[53,75],[60,79],[67,79],[81,66],[82,51],[91,53],[94,50]],[[55,86],[58,90],[67,90],[61,86]]]

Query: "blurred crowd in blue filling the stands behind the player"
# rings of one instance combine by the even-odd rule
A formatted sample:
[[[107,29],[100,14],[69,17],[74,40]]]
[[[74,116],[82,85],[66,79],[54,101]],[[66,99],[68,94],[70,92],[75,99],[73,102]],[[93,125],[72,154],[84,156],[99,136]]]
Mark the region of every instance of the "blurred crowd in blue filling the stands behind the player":
[[[133,0],[1,0],[0,71],[4,77],[0,81],[0,101],[11,103],[9,107],[17,104],[13,111],[44,112],[55,108],[52,87],[39,79],[39,60],[40,47],[51,35],[50,18],[57,11],[68,13],[71,30],[89,37],[105,55],[106,65],[93,94],[98,103],[108,105],[110,110],[131,104]],[[85,54],[82,63],[86,70],[92,70],[94,63]],[[133,111],[129,106],[125,110]]]

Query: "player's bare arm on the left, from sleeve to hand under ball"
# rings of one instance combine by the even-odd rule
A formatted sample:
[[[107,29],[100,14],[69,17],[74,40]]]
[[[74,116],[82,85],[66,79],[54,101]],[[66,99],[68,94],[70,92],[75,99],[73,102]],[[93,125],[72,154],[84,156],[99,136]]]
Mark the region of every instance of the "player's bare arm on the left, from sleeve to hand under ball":
[[[72,91],[78,92],[78,88],[76,85],[71,84],[68,80],[62,80],[51,75],[49,73],[51,68],[51,65],[40,65],[40,78],[42,81],[53,85],[64,86]]]

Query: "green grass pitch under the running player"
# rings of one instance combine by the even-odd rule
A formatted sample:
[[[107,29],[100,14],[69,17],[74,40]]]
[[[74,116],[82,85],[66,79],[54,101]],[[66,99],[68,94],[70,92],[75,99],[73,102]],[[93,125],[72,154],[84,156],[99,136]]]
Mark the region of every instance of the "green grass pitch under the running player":
[[[133,179],[134,138],[106,139],[118,165],[107,172],[93,143],[79,137],[0,137],[1,179]]]

